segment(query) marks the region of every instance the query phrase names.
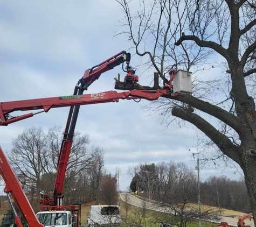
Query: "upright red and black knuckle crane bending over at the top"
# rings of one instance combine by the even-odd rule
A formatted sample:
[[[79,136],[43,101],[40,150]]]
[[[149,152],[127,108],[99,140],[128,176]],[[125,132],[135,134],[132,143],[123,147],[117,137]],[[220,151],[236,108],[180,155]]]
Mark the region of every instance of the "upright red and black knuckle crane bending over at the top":
[[[99,63],[99,65],[93,66],[91,69],[87,69],[84,73],[84,76],[78,81],[75,86],[73,97],[79,98],[84,90],[95,81],[98,80],[102,73],[107,72],[110,69],[113,69],[116,66],[119,66],[126,62],[127,67],[129,67],[130,63],[130,53],[126,53],[125,51],[121,51],[111,58],[107,59]],[[63,97],[69,99],[69,97]],[[54,192],[53,195],[42,195],[40,203],[43,205],[63,205],[63,184],[68,164],[68,159],[70,157],[71,147],[73,143],[73,136],[75,125],[77,123],[78,113],[79,113],[80,105],[75,105],[75,107],[70,108],[70,112],[68,113],[67,123],[64,131],[63,141],[60,148],[59,160],[57,165],[57,175],[54,183]],[[45,207],[47,209],[47,207]]]

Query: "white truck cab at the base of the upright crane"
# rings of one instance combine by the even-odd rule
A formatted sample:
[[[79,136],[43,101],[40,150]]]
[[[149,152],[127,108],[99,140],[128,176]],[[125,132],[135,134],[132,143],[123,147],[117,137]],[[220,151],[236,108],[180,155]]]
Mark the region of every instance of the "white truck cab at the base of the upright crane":
[[[38,221],[47,226],[58,226],[58,227],[72,227],[73,218],[71,211],[69,210],[58,210],[58,211],[40,211],[37,213]]]

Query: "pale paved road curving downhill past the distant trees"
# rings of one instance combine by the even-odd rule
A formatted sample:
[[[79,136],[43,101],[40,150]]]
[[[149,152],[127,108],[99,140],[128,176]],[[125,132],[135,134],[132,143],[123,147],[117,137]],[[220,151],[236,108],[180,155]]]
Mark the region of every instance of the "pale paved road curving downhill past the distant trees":
[[[149,209],[149,210],[167,212],[169,214],[172,213],[170,210],[167,210],[167,209],[164,209],[164,208],[161,208],[161,207],[157,207],[156,204],[150,203],[150,202],[145,202],[145,201],[141,200],[140,198],[138,198],[138,197],[136,197],[132,194],[129,194],[129,193],[120,193],[120,197],[121,197],[122,201],[128,202],[128,203],[134,205],[135,207],[147,207],[147,209]],[[233,217],[224,217],[224,216],[222,216],[221,221],[222,222],[227,222],[230,225],[237,226],[238,218],[237,217],[233,218]],[[245,224],[250,225],[251,227],[254,227],[253,220],[250,221],[250,219],[246,219]]]

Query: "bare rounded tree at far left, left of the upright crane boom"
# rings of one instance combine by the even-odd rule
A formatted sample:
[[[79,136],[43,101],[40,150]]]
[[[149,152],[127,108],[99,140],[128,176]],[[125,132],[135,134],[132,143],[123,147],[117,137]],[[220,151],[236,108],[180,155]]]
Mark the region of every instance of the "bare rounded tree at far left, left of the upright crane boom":
[[[10,164],[22,180],[24,187],[32,191],[31,203],[33,205],[33,195],[41,190],[41,176],[47,166],[49,155],[47,155],[46,133],[41,127],[30,127],[12,140],[12,149],[8,154]]]

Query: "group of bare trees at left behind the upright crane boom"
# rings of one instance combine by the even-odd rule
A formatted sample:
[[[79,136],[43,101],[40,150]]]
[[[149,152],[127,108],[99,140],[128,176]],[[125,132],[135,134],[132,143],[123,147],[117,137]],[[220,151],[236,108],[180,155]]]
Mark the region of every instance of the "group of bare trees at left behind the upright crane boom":
[[[53,193],[62,139],[61,127],[53,126],[47,133],[42,127],[29,127],[12,140],[8,159],[34,209],[41,193]],[[88,134],[75,132],[63,187],[64,204],[92,200],[113,204],[116,176],[104,168],[103,148],[88,148],[88,144]],[[106,195],[106,185],[111,186],[114,198]]]

